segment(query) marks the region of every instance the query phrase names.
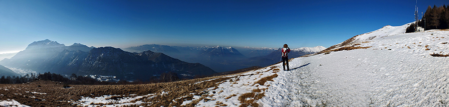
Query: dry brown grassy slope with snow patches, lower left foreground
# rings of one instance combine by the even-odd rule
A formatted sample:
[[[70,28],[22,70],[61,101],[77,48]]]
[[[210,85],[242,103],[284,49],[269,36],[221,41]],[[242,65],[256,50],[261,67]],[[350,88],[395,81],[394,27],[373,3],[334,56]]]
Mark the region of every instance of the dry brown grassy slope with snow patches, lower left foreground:
[[[194,84],[196,82],[211,80],[214,78],[217,79]],[[4,95],[0,96],[0,99],[13,99],[20,104],[31,107],[73,107],[75,105],[66,101],[78,101],[81,97],[94,98],[103,95],[117,95],[111,97],[110,99],[120,99],[123,97],[128,97],[131,94],[136,94],[137,96],[156,94],[158,96],[153,99],[147,99],[144,97],[138,100],[142,102],[152,102],[153,104],[151,107],[180,107],[182,102],[192,100],[193,95],[190,95],[190,93],[197,93],[201,95],[201,93],[204,93],[203,91],[205,89],[217,87],[219,84],[216,83],[221,83],[229,78],[231,77],[209,77],[179,82],[145,85],[71,85],[71,88],[66,89],[62,88],[61,83],[51,81],[34,81],[25,84],[0,84],[0,88],[2,89],[0,90],[0,93]],[[7,90],[3,90],[5,88]],[[160,95],[162,91],[166,91],[169,94]],[[32,94],[31,92],[46,94]],[[183,99],[176,99],[183,96],[187,97]],[[202,99],[203,98],[205,97],[202,97]],[[176,103],[172,102],[173,100],[176,101]],[[194,101],[192,104],[187,105],[187,107],[196,105],[198,102],[199,101]],[[148,104],[143,104],[141,106],[148,107]]]

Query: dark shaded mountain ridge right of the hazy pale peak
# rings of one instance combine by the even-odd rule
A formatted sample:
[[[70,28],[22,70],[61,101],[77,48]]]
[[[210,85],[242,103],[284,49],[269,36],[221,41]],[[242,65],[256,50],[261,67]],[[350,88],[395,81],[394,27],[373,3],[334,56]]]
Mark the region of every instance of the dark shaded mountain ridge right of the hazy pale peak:
[[[216,73],[201,64],[186,63],[163,53],[145,51],[133,54],[118,48],[100,47],[88,53],[77,74],[146,80],[165,72],[175,72],[185,78]]]

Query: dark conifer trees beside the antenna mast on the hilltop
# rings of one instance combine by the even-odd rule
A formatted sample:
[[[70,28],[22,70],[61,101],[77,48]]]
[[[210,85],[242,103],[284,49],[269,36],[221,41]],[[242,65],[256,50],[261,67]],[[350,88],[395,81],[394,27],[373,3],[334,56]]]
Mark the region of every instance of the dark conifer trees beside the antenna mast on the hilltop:
[[[424,16],[417,23],[412,23],[406,33],[415,32],[415,26],[418,24],[420,27],[424,27],[424,30],[431,29],[448,29],[449,28],[449,5],[443,5],[437,7],[434,5],[428,6]]]

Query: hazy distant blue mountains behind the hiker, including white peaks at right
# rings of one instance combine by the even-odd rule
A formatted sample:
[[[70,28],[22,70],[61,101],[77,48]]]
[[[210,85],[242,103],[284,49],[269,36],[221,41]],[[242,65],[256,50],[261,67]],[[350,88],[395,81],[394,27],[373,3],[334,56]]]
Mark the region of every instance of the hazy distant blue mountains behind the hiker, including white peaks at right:
[[[273,48],[239,49],[244,50],[246,56],[240,53],[236,48],[223,46],[180,47],[148,44],[128,47],[123,50],[129,52],[142,52],[144,50],[162,52],[186,62],[201,63],[217,72],[234,71],[252,66],[267,66],[279,62],[281,56],[280,48],[277,50]],[[296,48],[292,49],[289,56],[290,58],[300,57],[324,49],[325,48],[322,46]]]

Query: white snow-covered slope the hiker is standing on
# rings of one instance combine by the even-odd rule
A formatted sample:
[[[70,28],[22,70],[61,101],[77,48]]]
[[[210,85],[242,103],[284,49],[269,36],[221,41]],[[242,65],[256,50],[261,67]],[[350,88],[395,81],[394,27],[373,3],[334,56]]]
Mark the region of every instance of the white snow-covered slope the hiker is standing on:
[[[410,24],[410,23],[409,23]],[[294,58],[282,64],[231,75],[191,101],[197,107],[242,105],[239,97],[263,107],[444,107],[449,106],[449,31],[404,33],[408,24],[385,26],[355,37],[367,49]],[[273,81],[257,81],[277,74]],[[254,92],[260,89],[261,92]],[[182,98],[179,98],[182,99]],[[250,105],[251,106],[251,105]]]

